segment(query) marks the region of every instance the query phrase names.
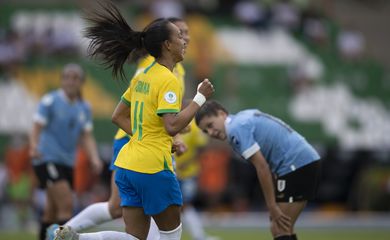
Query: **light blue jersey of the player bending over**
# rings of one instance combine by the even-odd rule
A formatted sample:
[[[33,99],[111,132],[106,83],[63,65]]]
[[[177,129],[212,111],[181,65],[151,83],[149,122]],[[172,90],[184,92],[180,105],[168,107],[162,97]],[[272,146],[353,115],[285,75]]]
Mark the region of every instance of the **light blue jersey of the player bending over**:
[[[234,151],[249,159],[260,151],[271,171],[283,176],[320,159],[314,148],[282,120],[256,109],[229,115],[225,121]]]

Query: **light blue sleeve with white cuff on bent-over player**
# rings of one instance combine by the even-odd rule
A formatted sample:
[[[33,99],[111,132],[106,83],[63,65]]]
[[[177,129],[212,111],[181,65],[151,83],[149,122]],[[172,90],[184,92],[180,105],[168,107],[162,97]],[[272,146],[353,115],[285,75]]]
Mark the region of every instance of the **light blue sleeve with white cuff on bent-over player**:
[[[245,159],[249,159],[260,150],[254,138],[254,127],[250,124],[239,124],[229,133],[229,142],[233,149]]]

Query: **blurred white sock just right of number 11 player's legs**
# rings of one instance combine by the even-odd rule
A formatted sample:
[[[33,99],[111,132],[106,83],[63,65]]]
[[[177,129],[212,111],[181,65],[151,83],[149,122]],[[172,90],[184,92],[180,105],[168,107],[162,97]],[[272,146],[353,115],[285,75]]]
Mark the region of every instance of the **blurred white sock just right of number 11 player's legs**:
[[[192,206],[186,206],[183,211],[184,226],[190,232],[193,239],[204,239],[206,234],[199,214]]]

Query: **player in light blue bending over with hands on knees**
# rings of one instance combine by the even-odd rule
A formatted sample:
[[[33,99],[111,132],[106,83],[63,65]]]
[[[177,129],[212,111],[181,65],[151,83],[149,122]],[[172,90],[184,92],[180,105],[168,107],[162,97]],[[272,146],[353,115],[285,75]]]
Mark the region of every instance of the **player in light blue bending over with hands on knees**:
[[[257,109],[229,115],[222,105],[209,101],[195,121],[255,166],[274,239],[297,239],[294,224],[318,184],[320,156],[314,148],[280,119]]]

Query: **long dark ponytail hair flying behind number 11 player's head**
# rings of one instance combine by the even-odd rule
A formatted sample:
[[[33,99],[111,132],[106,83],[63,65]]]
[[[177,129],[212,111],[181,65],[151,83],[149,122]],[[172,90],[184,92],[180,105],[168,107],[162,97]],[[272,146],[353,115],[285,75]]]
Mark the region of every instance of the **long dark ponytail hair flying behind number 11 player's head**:
[[[101,11],[90,12],[85,17],[92,23],[85,29],[85,36],[91,39],[88,46],[90,55],[101,58],[104,66],[112,68],[114,77],[120,75],[125,78],[123,65],[136,51],[146,50],[155,58],[161,57],[162,44],[171,34],[168,20],[158,19],[138,32],[127,24],[113,3],[99,2],[99,5]]]

